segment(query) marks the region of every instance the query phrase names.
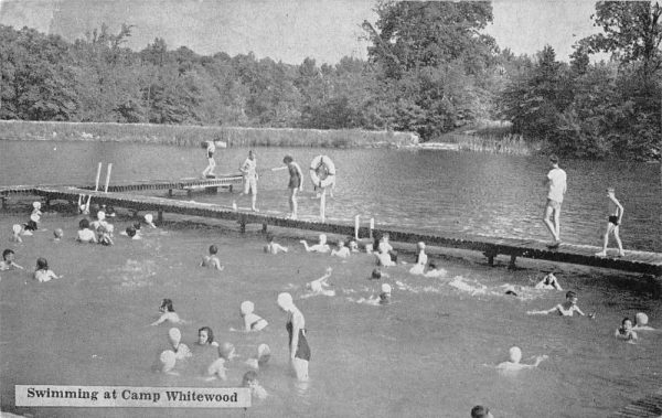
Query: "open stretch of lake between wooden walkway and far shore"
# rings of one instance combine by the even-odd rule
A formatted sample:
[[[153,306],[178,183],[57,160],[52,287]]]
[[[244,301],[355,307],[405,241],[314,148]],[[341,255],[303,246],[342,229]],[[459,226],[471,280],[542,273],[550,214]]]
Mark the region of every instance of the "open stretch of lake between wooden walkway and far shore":
[[[216,172],[236,172],[246,153],[247,149],[222,150]],[[338,184],[335,199],[327,200],[331,219],[360,214],[364,225],[374,217],[377,227],[549,238],[541,221],[546,197],[542,182],[549,169],[545,159],[453,151],[259,148],[258,206],[263,210],[288,211],[287,173],[268,170],[281,165],[286,153],[293,154],[305,172],[317,154],[333,159]],[[114,182],[192,178],[206,167],[204,157],[194,148],[0,141],[0,184],[92,183],[99,161],[113,162]],[[662,251],[659,164],[569,160],[560,165],[568,174],[562,213],[565,240],[600,244],[607,223],[605,189],[613,186],[624,206],[621,237],[626,249]],[[300,199],[303,216],[319,214],[319,201],[308,199],[313,196],[307,180]],[[227,193],[193,199],[232,203]],[[248,205],[247,197],[239,200],[241,207]]]

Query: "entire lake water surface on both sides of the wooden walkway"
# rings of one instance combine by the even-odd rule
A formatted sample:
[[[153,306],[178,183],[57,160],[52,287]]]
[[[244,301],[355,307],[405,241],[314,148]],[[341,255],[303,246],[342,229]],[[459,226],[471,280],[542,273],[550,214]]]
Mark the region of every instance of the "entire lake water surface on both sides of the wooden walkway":
[[[545,238],[537,221],[544,197],[540,179],[547,171],[541,160],[386,150],[257,151],[260,167],[278,165],[285,152],[300,161],[321,152],[331,156],[340,175],[337,197],[328,210],[332,217],[361,213],[374,216],[377,224],[439,233]],[[94,181],[97,161],[104,160],[114,163],[113,178],[118,181],[177,179],[196,175],[204,168],[201,153],[200,149],[117,143],[0,141],[0,174],[6,184],[87,183]],[[245,153],[223,150],[217,171],[231,171]],[[569,161],[565,167],[570,183],[563,234],[568,240],[595,243],[588,235],[595,237],[602,227],[596,213],[604,211],[601,179],[606,178],[623,190],[626,217],[633,224],[631,229],[639,225],[641,231],[634,245],[634,234],[626,235],[623,226],[626,246],[660,249],[658,165],[622,164],[620,174],[609,174],[615,164]],[[284,172],[263,175],[259,207],[287,211],[286,182]],[[585,186],[581,193],[578,184]],[[591,185],[596,202],[586,197]],[[310,194],[309,184],[307,189]],[[227,193],[192,199],[221,204],[232,200]],[[302,199],[302,213],[314,214],[316,205]],[[580,222],[578,213],[587,219]],[[264,238],[257,225],[241,235],[233,224],[200,224],[201,219],[181,216],[148,232],[143,240],[118,236],[115,246],[103,247],[73,242],[78,216],[50,213],[42,219],[49,231],[24,237],[23,244],[10,243],[7,232],[25,216],[15,210],[0,212],[4,232],[0,247],[13,248],[17,261],[29,271],[38,257],[46,257],[64,277],[35,283],[30,272],[1,272],[3,410],[35,417],[465,417],[473,405],[483,404],[496,417],[594,417],[660,389],[662,332],[642,332],[638,344],[612,335],[623,317],[638,311],[662,328],[661,304],[636,277],[554,266],[564,289],[577,291],[579,307],[596,311],[597,318],[530,317],[525,311],[548,309],[564,299],[564,292],[531,289],[552,265],[522,261],[526,268],[513,272],[485,266],[478,254],[449,251],[430,256],[447,270],[441,279],[412,276],[409,266],[389,268],[385,281],[394,287],[394,302],[374,307],[356,302],[378,288],[380,283],[366,280],[372,256],[360,254],[341,261],[308,255],[296,237],[302,232],[276,231],[290,251],[273,257],[261,253]],[[115,219],[116,231],[131,222]],[[65,234],[57,244],[51,238],[56,227]],[[221,248],[222,272],[197,267],[210,244]],[[402,258],[414,261],[412,254]],[[333,267],[329,281],[335,297],[307,298],[305,283],[319,278],[327,266]],[[521,298],[506,297],[504,283],[524,287],[517,288]],[[286,318],[275,303],[280,291],[290,291],[306,315],[312,351],[311,382],[306,387],[287,373]],[[168,347],[169,325],[146,326],[158,317],[162,298],[173,299],[178,313],[190,321],[180,329],[195,356],[178,364],[180,376],[150,372],[154,356]],[[256,313],[269,321],[265,332],[228,331],[241,324],[243,300],[255,302]],[[246,369],[241,361],[229,365],[227,383],[201,381],[201,371],[214,357],[194,344],[203,325],[210,325],[218,341],[233,342],[244,358],[259,343],[270,345],[271,361],[259,373],[270,394],[266,400],[247,411],[13,407],[15,384],[236,386]],[[499,373],[493,366],[506,358],[512,345],[522,349],[524,362],[541,354],[549,358],[536,369]]]

